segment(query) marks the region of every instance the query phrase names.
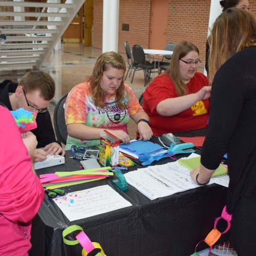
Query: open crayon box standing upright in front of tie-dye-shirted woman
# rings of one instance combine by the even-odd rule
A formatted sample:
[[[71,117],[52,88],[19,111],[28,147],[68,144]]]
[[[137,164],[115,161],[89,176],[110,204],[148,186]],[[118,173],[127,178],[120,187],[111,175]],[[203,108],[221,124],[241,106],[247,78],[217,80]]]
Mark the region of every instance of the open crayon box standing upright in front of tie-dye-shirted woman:
[[[103,166],[118,166],[119,144],[115,135],[104,130],[100,134],[99,163]]]

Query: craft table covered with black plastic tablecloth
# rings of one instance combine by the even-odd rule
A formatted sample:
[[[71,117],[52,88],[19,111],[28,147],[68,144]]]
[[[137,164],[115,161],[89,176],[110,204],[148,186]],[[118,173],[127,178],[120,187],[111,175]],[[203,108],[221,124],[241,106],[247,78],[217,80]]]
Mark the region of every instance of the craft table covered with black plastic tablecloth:
[[[41,169],[37,174],[79,169],[79,161],[69,157],[65,161],[65,165]],[[157,164],[167,161],[170,158]],[[188,256],[213,228],[215,218],[226,204],[227,188],[219,185],[190,189],[154,201],[132,186],[125,192],[119,190],[110,178],[70,186],[66,190],[69,193],[101,185],[113,187],[132,206],[70,222],[59,207],[45,197],[33,219],[29,255],[81,255],[81,245],[65,245],[62,240],[63,229],[76,224],[83,227],[92,242],[100,243],[107,256]],[[225,228],[225,222],[218,224],[220,231]],[[222,235],[220,242],[227,241],[228,237],[228,233]],[[204,249],[206,245],[202,244],[201,249]]]

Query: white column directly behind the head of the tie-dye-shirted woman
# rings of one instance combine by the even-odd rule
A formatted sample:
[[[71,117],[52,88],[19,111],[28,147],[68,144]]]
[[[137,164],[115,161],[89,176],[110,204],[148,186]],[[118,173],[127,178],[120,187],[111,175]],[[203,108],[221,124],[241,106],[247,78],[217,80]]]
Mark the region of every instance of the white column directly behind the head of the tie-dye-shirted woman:
[[[103,0],[102,53],[118,51],[119,0]]]

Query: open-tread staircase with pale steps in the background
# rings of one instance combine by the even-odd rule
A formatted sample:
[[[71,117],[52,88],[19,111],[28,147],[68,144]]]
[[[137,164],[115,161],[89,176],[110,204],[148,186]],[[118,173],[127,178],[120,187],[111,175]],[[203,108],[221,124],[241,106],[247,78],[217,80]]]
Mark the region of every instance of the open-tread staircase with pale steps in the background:
[[[85,0],[53,2],[0,1],[0,70],[39,69]]]

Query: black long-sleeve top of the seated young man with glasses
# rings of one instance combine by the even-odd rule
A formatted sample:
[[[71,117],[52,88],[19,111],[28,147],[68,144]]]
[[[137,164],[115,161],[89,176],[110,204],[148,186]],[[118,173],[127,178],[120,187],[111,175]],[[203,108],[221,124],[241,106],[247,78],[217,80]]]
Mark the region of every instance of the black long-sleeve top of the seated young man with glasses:
[[[0,101],[2,101],[9,110],[13,110],[9,100],[9,93],[14,93],[17,86],[17,83],[10,80],[5,80],[0,83]],[[37,128],[31,130],[31,132],[36,135],[36,139],[38,141],[37,148],[43,148],[52,142],[59,143],[55,139],[49,111],[46,111],[45,113],[38,113],[36,117],[36,124]]]

